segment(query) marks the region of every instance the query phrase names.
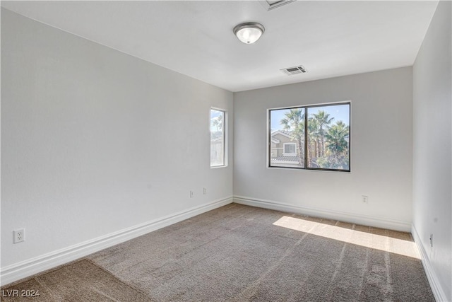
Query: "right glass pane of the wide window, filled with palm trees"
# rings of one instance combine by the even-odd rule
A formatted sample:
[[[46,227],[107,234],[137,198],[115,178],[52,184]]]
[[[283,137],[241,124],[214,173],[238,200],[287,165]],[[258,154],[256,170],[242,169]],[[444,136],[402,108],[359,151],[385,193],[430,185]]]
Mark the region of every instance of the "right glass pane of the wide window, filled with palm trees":
[[[307,108],[308,168],[350,170],[350,104]]]

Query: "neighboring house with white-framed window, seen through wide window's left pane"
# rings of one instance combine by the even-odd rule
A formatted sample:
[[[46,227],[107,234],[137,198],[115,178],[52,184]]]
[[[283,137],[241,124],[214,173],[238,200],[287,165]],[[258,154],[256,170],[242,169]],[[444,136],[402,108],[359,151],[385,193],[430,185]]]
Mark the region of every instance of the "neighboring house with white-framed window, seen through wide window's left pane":
[[[270,165],[278,167],[299,167],[297,141],[290,132],[277,130],[270,135]]]

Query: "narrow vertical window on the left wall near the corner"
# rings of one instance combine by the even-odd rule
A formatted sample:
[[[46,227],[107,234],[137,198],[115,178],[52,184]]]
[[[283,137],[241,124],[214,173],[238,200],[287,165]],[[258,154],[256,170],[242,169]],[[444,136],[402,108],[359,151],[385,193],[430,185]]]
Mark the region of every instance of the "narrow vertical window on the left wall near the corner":
[[[210,109],[210,167],[225,165],[225,111]]]

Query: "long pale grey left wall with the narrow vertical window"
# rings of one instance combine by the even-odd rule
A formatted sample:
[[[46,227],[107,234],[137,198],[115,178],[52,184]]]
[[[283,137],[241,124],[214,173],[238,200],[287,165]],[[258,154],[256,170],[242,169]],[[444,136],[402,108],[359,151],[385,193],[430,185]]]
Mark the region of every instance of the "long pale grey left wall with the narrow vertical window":
[[[232,197],[232,141],[227,168],[209,162],[210,107],[227,110],[233,139],[232,105],[229,91],[2,8],[2,271]],[[26,240],[13,245],[16,228]]]

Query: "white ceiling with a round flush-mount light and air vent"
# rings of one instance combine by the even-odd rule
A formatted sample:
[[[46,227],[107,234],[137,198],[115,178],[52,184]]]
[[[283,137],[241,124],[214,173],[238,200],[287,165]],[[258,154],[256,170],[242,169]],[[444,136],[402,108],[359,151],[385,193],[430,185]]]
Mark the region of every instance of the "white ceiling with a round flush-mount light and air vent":
[[[273,1],[268,1],[269,3]],[[437,1],[1,1],[69,33],[228,91],[411,66]],[[256,21],[253,45],[232,28]],[[303,65],[307,74],[280,69]]]

